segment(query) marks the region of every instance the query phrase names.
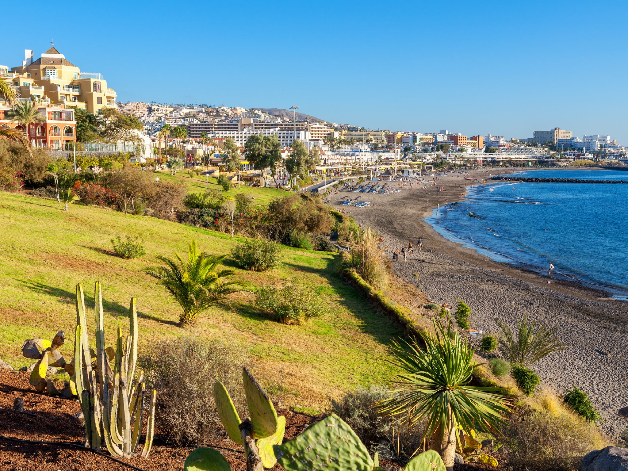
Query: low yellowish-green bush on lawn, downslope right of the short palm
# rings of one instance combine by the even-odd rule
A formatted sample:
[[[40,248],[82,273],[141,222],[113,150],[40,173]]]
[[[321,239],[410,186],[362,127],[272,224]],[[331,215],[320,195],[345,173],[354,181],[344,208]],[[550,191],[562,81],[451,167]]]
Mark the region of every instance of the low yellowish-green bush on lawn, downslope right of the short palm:
[[[323,300],[311,288],[300,284],[284,284],[262,286],[257,291],[254,305],[271,313],[284,324],[301,324],[312,317],[320,317],[325,313]]]

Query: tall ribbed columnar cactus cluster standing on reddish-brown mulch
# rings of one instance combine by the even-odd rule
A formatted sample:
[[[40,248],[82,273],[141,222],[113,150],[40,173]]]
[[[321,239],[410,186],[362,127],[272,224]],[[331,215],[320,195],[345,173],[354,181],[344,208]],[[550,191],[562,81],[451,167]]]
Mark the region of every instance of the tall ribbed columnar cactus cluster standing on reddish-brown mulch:
[[[85,418],[86,446],[99,450],[104,441],[112,455],[131,457],[139,445],[146,384],[136,371],[138,359],[138,313],[135,298],[129,306],[129,332],[118,328],[116,349],[105,347],[100,283],[95,283],[96,350],[90,352],[85,320],[83,288],[77,284],[77,328],[74,340],[75,387]],[[111,362],[113,361],[113,369]],[[148,457],[153,443],[156,391],[151,393],[148,430],[141,455]]]

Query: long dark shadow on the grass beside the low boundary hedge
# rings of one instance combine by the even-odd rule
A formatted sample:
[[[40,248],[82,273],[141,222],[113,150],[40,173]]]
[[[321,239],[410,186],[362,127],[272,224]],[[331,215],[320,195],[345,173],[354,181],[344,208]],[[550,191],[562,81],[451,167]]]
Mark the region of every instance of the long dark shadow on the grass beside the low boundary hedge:
[[[338,257],[334,257],[328,260],[325,268],[303,266],[291,262],[284,262],[283,264],[295,269],[295,271],[313,273],[327,279],[333,292],[338,296],[338,302],[355,317],[362,320],[362,323],[357,325],[357,327],[362,332],[376,338],[381,344],[391,345],[391,340],[394,338],[404,337],[404,331],[398,323],[371,306],[371,303],[369,303],[361,291],[357,290],[338,274],[338,263]],[[311,286],[311,288],[315,287]]]

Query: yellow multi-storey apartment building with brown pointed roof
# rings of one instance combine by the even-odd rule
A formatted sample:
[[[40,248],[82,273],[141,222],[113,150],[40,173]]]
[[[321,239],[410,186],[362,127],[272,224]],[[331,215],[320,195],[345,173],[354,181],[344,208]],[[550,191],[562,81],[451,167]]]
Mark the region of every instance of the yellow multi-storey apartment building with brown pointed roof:
[[[55,46],[37,60],[33,51],[24,51],[25,60],[8,73],[23,99],[45,106],[65,104],[99,114],[104,107],[116,107],[116,92],[107,88],[100,73],[81,72]]]

